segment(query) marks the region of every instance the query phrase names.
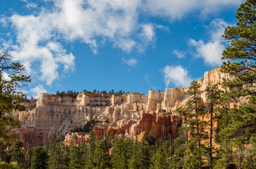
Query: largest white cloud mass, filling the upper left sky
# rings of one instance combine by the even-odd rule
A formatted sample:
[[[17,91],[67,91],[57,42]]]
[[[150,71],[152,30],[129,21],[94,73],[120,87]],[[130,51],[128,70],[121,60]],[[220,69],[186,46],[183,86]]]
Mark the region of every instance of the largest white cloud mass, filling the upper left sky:
[[[6,46],[13,49],[16,61],[23,63],[28,73],[39,75],[40,80],[45,80],[47,84],[50,85],[59,78],[59,69],[62,68],[60,65],[65,73],[74,70],[75,56],[59,43],[63,38],[67,42],[79,40],[86,43],[95,54],[98,37],[107,38],[114,46],[126,52],[136,45],[131,34],[136,31],[139,0],[52,2],[54,6],[51,11],[42,8],[38,15],[15,14],[8,18],[17,37],[16,42]],[[141,29],[146,31],[147,38],[153,38],[153,32],[146,28]],[[35,65],[38,63],[40,65]]]

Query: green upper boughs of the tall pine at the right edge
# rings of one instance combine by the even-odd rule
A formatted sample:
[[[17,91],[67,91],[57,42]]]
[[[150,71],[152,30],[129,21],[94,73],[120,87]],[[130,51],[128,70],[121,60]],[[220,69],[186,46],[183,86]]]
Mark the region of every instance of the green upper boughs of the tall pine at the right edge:
[[[236,12],[238,22],[235,26],[226,27],[223,37],[230,43],[223,51],[222,70],[225,73],[238,75],[235,80],[226,82],[227,87],[238,87],[233,97],[255,95],[255,61],[256,61],[256,1],[248,0],[240,5]],[[232,61],[232,62],[231,62]],[[251,89],[243,88],[247,84]]]

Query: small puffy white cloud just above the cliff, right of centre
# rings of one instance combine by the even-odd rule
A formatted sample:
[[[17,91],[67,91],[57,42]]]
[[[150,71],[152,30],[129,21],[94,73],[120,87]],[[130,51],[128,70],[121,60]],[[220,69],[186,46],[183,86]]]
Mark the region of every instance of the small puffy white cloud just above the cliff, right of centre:
[[[163,74],[165,87],[168,87],[170,83],[175,87],[189,87],[190,82],[193,81],[187,70],[180,65],[166,65],[165,68],[163,68]]]

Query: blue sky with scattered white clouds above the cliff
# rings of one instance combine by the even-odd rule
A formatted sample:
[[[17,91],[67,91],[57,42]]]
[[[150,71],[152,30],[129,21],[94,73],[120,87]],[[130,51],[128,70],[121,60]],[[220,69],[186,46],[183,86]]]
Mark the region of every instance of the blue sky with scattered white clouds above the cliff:
[[[221,66],[221,35],[243,2],[1,0],[1,49],[25,65],[28,96],[188,87]]]

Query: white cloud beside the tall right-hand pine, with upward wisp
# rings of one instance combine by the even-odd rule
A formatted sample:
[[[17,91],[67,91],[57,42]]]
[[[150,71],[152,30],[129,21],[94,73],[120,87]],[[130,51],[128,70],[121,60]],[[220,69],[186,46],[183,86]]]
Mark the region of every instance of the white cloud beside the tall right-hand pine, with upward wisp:
[[[221,19],[215,19],[211,22],[211,37],[209,42],[203,40],[189,40],[190,46],[194,46],[197,50],[197,58],[203,58],[204,63],[212,66],[220,66],[222,64],[222,51],[225,49],[223,32],[228,24]]]

